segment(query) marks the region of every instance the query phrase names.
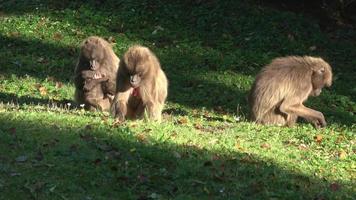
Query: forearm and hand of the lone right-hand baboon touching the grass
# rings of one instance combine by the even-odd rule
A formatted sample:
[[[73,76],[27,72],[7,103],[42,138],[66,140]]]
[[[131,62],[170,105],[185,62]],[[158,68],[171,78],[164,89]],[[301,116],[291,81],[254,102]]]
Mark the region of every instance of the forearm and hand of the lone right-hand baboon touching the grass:
[[[323,113],[313,110],[311,108],[305,107],[302,103],[292,104],[292,102],[297,102],[297,100],[284,100],[279,108],[282,113],[285,113],[288,117],[289,114],[296,114],[307,121],[313,123],[315,128],[325,127],[326,121]]]

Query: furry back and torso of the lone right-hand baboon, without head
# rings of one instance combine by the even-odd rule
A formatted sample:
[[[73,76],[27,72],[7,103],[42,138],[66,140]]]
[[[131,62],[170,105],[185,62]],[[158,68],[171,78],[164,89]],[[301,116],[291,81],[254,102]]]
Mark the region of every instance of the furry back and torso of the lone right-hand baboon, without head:
[[[284,99],[294,96],[307,99],[308,95],[303,96],[299,91],[311,90],[312,64],[310,57],[289,56],[276,58],[265,66],[256,76],[249,96],[253,120],[264,123],[275,117],[281,121],[277,119],[281,115],[278,107]]]

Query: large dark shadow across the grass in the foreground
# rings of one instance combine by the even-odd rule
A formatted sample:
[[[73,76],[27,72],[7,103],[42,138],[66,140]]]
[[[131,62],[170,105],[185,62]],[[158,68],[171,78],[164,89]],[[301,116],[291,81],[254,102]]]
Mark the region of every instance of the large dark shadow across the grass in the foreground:
[[[308,177],[253,154],[157,142],[125,127],[108,134],[110,130],[96,125],[63,127],[6,115],[0,119],[0,151],[7,152],[0,157],[0,191],[5,199],[351,199],[354,195],[345,187],[351,183]]]

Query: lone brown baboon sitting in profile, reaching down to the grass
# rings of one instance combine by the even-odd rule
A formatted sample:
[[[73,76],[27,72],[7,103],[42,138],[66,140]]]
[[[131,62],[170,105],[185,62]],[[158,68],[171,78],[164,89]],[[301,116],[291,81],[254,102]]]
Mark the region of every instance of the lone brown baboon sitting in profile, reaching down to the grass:
[[[324,115],[303,102],[330,87],[332,71],[321,58],[276,58],[257,75],[249,95],[252,119],[261,124],[293,126],[298,117],[326,126]]]

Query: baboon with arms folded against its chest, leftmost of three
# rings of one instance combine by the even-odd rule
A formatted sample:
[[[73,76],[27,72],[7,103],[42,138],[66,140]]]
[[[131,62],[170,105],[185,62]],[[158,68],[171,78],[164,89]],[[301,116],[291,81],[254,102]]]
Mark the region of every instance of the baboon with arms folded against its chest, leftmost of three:
[[[75,67],[75,100],[88,110],[109,111],[116,91],[119,58],[104,39],[91,36],[81,44]]]

